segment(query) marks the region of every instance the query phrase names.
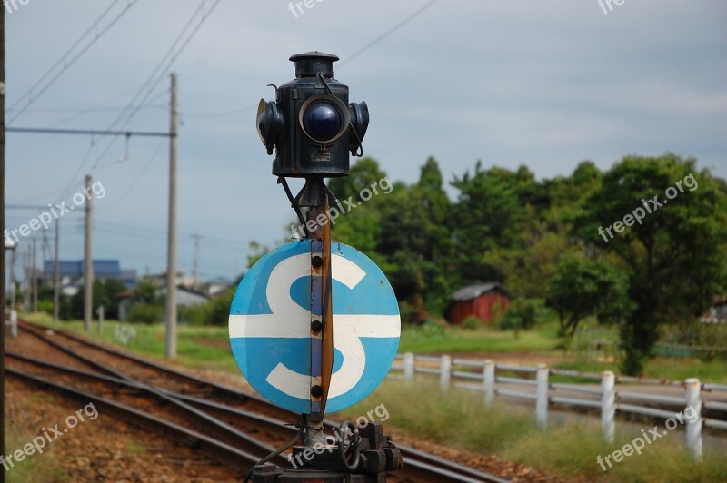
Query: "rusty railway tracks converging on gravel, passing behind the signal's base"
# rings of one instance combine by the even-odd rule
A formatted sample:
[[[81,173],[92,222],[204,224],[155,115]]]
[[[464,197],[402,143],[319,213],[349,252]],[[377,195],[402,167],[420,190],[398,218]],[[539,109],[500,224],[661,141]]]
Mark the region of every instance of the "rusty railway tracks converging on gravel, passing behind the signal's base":
[[[210,437],[209,433],[204,431],[195,432],[193,430],[194,434],[206,435],[205,437],[211,440],[219,438],[223,441],[222,444],[229,448],[242,451],[248,456],[248,459],[244,460],[244,465],[249,466],[249,458],[255,458],[254,461],[257,461],[270,452],[265,449],[272,450],[270,445],[266,446],[265,443],[259,441],[257,443],[260,444],[255,444],[249,439],[263,438],[267,441],[274,441],[274,445],[279,446],[280,441],[290,439],[294,435],[295,429],[284,424],[297,420],[297,414],[277,408],[266,400],[242,390],[226,387],[215,381],[196,378],[163,364],[105,347],[63,330],[55,330],[53,337],[48,337],[45,334],[45,328],[25,321],[19,324],[19,328],[94,372],[62,366],[48,360],[27,358],[13,352],[8,354],[9,359],[15,360],[18,364],[35,365],[36,368],[52,371],[58,377],[63,374],[64,380],[75,378],[85,380],[85,384],[92,386],[101,385],[105,387],[103,389],[105,394],[113,394],[114,390],[116,393],[121,391],[124,395],[144,392],[146,400],[161,400],[166,405],[180,408],[179,410],[183,411],[180,414],[189,415],[182,416],[183,418],[189,417],[198,423],[206,421],[206,424],[202,424],[202,428],[215,431],[214,437]],[[70,386],[64,384],[58,385],[64,386],[65,389],[58,389],[55,386],[47,385],[49,382],[47,380],[38,381],[41,378],[32,374],[32,371],[25,372],[23,376],[15,372],[13,374],[15,377],[24,377],[25,380],[35,378],[37,379],[34,380],[35,383],[45,384],[45,387],[49,389],[66,393],[71,390],[68,389]],[[112,387],[114,389],[111,389]],[[96,395],[96,397],[100,396]],[[122,406],[124,405],[122,404]],[[115,413],[122,412],[122,409],[113,410]],[[338,427],[334,421],[327,420],[324,423],[329,432]],[[238,430],[235,433],[237,428],[242,428],[244,431]],[[184,436],[184,438],[192,437]],[[240,446],[238,447],[237,444]],[[211,449],[210,452],[214,453],[214,447],[209,442],[205,440],[204,445],[206,445],[205,449]],[[397,445],[397,447],[402,450],[405,466],[390,475],[389,478],[392,481],[506,481],[503,478],[433,456],[418,449],[403,445]],[[230,453],[222,451],[220,454],[229,455]],[[239,462],[239,458],[237,460]],[[274,462],[281,465],[286,464],[282,456]],[[239,467],[238,464],[234,468]]]

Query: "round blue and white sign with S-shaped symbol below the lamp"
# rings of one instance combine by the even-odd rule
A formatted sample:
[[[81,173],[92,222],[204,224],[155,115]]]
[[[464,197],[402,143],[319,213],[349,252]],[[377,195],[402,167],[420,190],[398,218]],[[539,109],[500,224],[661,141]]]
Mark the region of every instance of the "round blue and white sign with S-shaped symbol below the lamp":
[[[399,306],[383,271],[364,253],[331,243],[334,372],[326,412],[368,396],[391,368]],[[311,242],[266,254],[245,274],[230,307],[230,345],[245,379],[265,399],[311,412]]]

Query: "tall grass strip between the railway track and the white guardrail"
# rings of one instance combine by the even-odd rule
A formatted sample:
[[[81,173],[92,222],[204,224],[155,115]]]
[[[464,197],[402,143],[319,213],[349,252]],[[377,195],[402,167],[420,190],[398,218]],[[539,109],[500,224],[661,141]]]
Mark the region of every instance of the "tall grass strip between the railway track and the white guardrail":
[[[642,455],[624,458],[607,471],[596,458],[641,435],[638,429],[622,429],[612,445],[603,441],[596,421],[554,422],[543,431],[533,425],[532,407],[495,404],[485,408],[481,395],[453,390],[446,397],[435,384],[407,385],[384,381],[371,396],[344,411],[355,418],[384,404],[387,426],[441,442],[443,446],[488,452],[545,473],[587,481],[725,481],[727,458],[705,448],[702,464],[687,457],[683,429],[675,429],[654,441]],[[413,408],[412,401],[416,401]],[[676,434],[678,433],[678,434]]]

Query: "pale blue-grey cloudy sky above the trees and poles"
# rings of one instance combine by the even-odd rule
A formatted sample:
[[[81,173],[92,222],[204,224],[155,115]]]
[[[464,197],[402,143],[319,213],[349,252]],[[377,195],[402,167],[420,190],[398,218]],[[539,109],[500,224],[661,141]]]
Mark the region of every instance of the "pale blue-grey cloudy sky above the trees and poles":
[[[667,151],[727,177],[721,0],[625,0],[612,11],[605,6],[606,14],[598,0],[308,5],[8,5],[7,124],[165,131],[168,72],[178,73],[178,265],[192,270],[198,233],[207,279],[244,271],[251,240],[274,246],[286,236],[293,215],[270,173],[254,109],[274,95],[266,84],[294,77],[288,57],[310,50],[341,57],[335,77],[371,112],[365,152],[393,180],[414,182],[430,155],[450,180],[477,160],[526,164],[549,178],[584,159],[607,169],[624,154]],[[95,258],[163,271],[168,143],[111,141],[8,133],[6,202],[72,204],[90,173],[105,191],[95,201]],[[8,210],[7,227],[35,214]],[[81,259],[81,210],[60,222],[62,259]],[[42,240],[42,230],[35,236]]]

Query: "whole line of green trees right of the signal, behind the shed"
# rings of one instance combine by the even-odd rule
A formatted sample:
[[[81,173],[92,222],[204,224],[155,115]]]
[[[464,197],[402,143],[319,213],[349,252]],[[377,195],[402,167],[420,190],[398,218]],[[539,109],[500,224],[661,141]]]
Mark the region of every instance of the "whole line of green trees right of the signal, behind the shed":
[[[364,158],[329,186],[359,200],[384,177]],[[499,281],[513,311],[533,320],[547,305],[565,337],[588,316],[619,324],[622,369],[636,374],[662,324],[694,323],[727,290],[727,183],[692,158],[626,156],[605,172],[584,161],[540,181],[526,166],[478,162],[449,185],[453,200],[429,158],[417,182],[332,226],[383,269],[405,321],[441,317],[454,290]]]

